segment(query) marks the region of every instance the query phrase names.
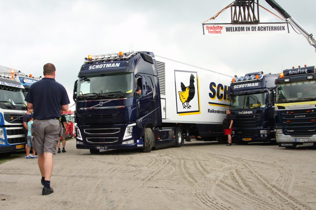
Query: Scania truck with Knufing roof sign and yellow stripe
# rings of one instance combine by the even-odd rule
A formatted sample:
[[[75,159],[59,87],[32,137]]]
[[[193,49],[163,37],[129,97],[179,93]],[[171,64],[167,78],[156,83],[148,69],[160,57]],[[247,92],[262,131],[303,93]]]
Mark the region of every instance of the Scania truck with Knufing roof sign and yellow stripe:
[[[315,145],[315,66],[283,70],[275,84],[276,142],[286,148],[294,148],[303,143]]]

